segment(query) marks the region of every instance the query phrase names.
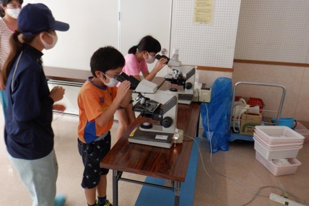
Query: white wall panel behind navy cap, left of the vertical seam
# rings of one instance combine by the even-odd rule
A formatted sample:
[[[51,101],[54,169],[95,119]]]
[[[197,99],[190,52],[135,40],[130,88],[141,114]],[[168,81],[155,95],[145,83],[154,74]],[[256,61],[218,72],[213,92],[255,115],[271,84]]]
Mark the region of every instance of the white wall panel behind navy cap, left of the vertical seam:
[[[99,47],[118,48],[118,4],[116,0],[33,0],[47,5],[56,20],[70,24],[68,32],[57,32],[55,48],[44,50],[45,66],[90,70],[91,55]]]

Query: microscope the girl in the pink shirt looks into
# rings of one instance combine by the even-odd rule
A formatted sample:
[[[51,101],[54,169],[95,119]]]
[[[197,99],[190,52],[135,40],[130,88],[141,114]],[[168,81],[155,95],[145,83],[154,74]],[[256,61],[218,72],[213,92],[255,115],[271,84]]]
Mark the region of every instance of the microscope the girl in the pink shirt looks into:
[[[160,54],[157,54],[155,58],[158,60],[161,58],[167,59],[168,72],[165,81],[170,82],[169,91],[178,93],[179,103],[191,104],[194,95],[196,67],[182,65],[178,57],[178,49],[174,49],[171,59]]]

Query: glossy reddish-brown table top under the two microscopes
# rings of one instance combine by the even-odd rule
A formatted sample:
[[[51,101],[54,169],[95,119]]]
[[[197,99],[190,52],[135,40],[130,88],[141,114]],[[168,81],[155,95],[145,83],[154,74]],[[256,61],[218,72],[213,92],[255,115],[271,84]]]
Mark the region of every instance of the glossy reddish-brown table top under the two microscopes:
[[[201,104],[178,105],[177,128],[194,137]],[[101,161],[100,166],[112,170],[141,174],[184,182],[193,141],[184,138],[182,144],[170,149],[129,143],[128,136],[142,122],[155,122],[149,118],[137,118]]]

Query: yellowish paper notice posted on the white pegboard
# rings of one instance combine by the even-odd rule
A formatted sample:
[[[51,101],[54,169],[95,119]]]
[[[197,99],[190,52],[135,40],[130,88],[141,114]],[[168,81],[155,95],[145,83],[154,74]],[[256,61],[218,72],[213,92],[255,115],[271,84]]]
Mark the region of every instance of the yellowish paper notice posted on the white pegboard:
[[[194,24],[211,24],[214,15],[214,0],[194,0]]]

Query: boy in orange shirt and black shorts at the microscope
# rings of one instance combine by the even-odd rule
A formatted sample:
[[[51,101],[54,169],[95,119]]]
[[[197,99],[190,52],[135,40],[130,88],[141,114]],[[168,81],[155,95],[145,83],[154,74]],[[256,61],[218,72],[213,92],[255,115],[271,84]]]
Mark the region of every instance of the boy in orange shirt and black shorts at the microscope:
[[[111,148],[109,130],[114,114],[119,106],[129,105],[132,97],[129,81],[122,82],[118,89],[115,87],[124,65],[125,58],[117,49],[98,49],[90,62],[93,77],[88,78],[78,94],[78,151],[84,164],[81,185],[89,206],[112,206],[106,199],[108,169],[99,164]]]

